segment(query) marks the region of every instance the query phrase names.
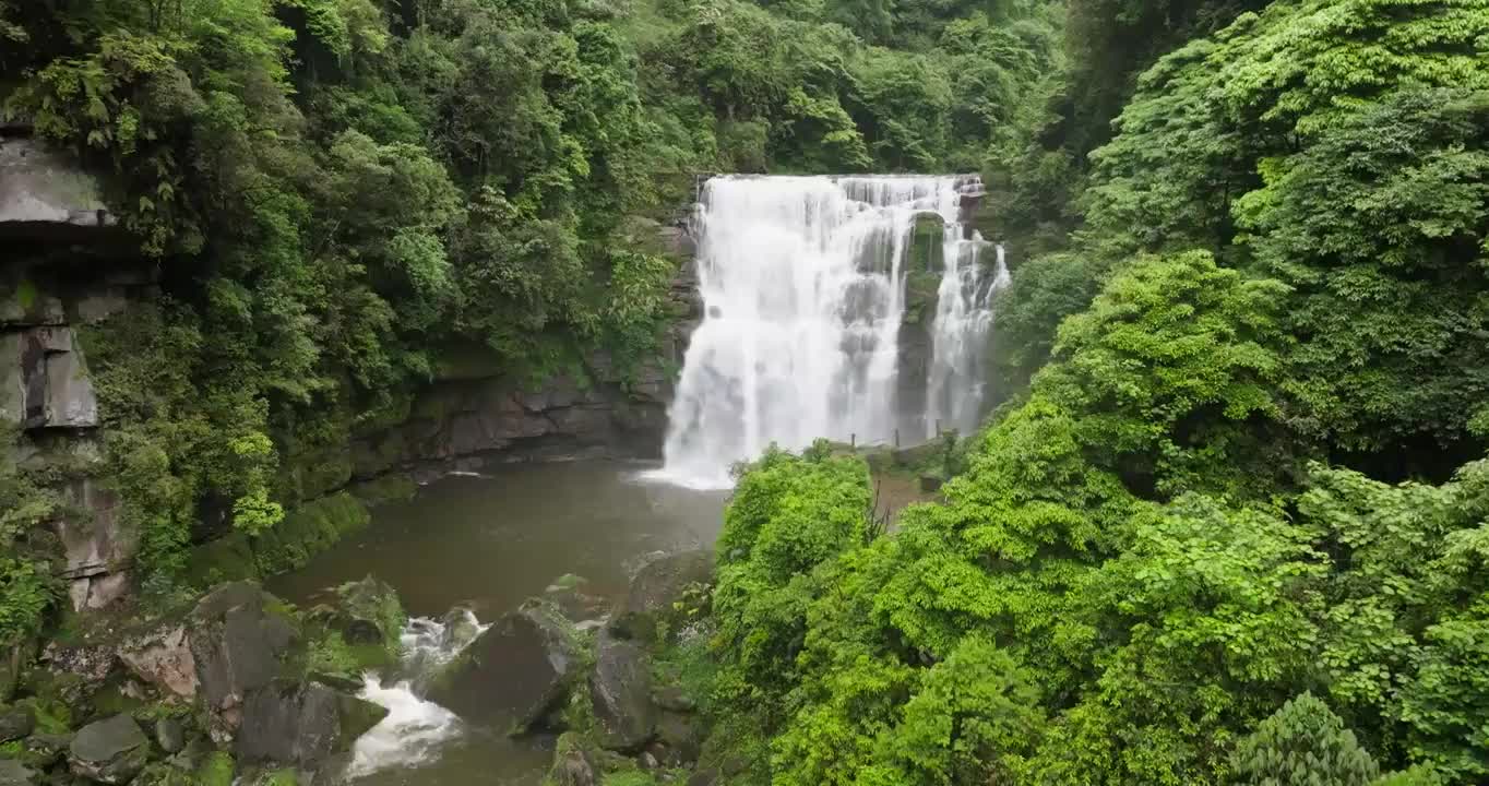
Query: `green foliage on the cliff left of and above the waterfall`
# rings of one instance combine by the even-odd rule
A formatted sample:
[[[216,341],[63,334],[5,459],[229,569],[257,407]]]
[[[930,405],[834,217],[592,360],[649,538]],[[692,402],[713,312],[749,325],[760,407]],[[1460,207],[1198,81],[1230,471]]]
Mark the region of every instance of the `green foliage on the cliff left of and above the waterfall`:
[[[441,347],[526,377],[649,359],[676,261],[625,219],[692,173],[971,170],[1060,63],[1042,3],[864,10],[0,4],[0,112],[107,174],[161,271],[89,345],[149,572],[345,484],[328,456]]]

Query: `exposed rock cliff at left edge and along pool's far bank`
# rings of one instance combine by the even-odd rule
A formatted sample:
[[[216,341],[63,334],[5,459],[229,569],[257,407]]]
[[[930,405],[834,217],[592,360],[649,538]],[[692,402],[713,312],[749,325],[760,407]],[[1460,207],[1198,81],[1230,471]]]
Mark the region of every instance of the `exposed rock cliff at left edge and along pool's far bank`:
[[[338,491],[387,476],[427,481],[509,461],[660,456],[673,369],[697,319],[683,225],[634,217],[625,226],[628,243],[679,266],[676,323],[658,356],[622,365],[591,351],[560,372],[518,380],[479,345],[442,347],[435,380],[405,396],[402,409],[313,454],[284,447],[286,502],[305,509],[290,511],[277,527],[284,531],[247,546],[241,536],[204,542],[198,552],[243,554],[268,543],[274,552],[256,554],[258,564],[292,567],[345,531],[351,524],[342,518],[365,521],[357,511],[325,524],[320,508],[341,511],[348,497]],[[104,607],[130,588],[138,534],[122,521],[104,469],[107,412],[100,412],[85,336],[159,298],[159,275],[116,226],[100,183],[24,127],[0,130],[0,241],[9,252],[0,261],[0,426],[15,432],[15,447],[4,450],[61,497],[51,534],[73,609]],[[334,505],[317,508],[332,496]],[[197,537],[223,531],[207,523]]]

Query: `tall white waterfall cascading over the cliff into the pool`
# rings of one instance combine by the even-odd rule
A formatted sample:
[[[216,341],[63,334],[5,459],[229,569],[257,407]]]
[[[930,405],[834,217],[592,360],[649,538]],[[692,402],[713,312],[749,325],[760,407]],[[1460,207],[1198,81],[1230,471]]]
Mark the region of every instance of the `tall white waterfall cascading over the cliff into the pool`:
[[[669,409],[666,466],[691,487],[727,487],[768,445],[813,439],[907,444],[975,423],[978,354],[999,272],[962,220],[968,176],[713,177],[694,217],[703,322]],[[934,359],[923,411],[898,400],[905,263],[917,217],[944,222]],[[999,255],[999,261],[1002,256]],[[999,269],[1002,269],[999,266]],[[1001,272],[1007,278],[1007,271]],[[934,393],[934,396],[931,394]]]

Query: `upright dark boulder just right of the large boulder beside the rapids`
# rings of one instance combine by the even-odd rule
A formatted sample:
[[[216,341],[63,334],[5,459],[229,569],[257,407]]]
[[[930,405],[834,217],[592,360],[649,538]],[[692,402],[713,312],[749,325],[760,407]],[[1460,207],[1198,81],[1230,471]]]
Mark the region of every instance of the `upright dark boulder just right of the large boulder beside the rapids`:
[[[610,750],[640,750],[657,731],[651,703],[651,664],[633,642],[600,634],[590,701],[600,726],[600,744]]]

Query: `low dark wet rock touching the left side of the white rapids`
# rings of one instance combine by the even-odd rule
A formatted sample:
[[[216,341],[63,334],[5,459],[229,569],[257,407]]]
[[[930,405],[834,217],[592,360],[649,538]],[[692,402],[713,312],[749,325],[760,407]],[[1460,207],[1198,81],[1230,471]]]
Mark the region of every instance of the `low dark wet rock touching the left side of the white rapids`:
[[[275,680],[249,694],[235,753],[244,762],[316,767],[387,716],[319,682]]]

